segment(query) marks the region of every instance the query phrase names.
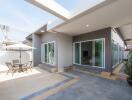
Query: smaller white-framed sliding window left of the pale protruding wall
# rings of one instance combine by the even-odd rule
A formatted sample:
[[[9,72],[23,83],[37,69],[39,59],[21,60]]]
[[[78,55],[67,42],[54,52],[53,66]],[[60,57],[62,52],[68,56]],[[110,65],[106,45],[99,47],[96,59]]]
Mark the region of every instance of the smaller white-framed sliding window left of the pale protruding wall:
[[[41,61],[47,64],[55,64],[55,42],[44,43],[41,46]]]

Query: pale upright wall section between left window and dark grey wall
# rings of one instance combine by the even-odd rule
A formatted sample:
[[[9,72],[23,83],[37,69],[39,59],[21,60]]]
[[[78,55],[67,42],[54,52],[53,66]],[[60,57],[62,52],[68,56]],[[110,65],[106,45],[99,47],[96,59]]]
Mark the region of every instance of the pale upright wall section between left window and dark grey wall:
[[[63,71],[64,67],[72,65],[72,37],[59,35],[58,39],[58,70]]]

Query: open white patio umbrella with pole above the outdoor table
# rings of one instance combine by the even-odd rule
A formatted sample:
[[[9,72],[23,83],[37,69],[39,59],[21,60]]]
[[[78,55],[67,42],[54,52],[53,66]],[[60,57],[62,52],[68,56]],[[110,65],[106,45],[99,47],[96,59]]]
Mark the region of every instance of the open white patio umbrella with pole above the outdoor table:
[[[18,43],[18,44],[13,44],[5,47],[8,50],[18,50],[20,51],[20,63],[21,63],[21,51],[26,51],[26,50],[32,50],[34,47]]]

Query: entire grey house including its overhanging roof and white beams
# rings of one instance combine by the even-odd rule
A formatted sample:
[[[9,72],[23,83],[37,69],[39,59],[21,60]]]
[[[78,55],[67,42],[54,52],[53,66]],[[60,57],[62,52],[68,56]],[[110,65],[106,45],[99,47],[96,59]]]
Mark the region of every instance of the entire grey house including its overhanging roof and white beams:
[[[122,62],[128,45],[124,41],[131,39],[124,25],[131,22],[132,1],[101,0],[74,13],[55,0],[26,1],[58,17],[32,34],[34,66],[58,71],[75,66],[111,73]]]

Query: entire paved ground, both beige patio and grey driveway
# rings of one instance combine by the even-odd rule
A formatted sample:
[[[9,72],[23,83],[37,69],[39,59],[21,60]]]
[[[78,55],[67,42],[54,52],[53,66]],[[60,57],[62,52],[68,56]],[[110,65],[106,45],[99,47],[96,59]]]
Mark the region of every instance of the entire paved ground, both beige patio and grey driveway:
[[[4,76],[6,79],[4,79]],[[79,76],[79,77],[77,77]],[[0,73],[0,100],[132,100],[132,87],[123,80],[108,80],[80,72]]]

